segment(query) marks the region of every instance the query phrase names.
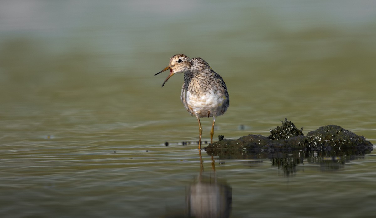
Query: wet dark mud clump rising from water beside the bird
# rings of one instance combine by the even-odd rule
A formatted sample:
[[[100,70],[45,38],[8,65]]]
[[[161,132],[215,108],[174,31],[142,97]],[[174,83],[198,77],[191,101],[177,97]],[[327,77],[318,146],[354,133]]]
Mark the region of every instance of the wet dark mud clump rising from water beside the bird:
[[[270,130],[270,136],[248,135],[239,139],[222,139],[212,143],[205,148],[209,155],[223,154],[241,150],[243,152],[232,153],[235,156],[243,153],[275,153],[291,151],[320,151],[320,152],[340,152],[341,149],[352,150],[358,154],[368,154],[373,149],[372,143],[358,136],[349,130],[338,125],[326,125],[317,130],[307,133],[306,136],[295,125],[285,119],[282,125]],[[232,155],[232,156],[233,156]],[[239,157],[231,157],[239,158]]]

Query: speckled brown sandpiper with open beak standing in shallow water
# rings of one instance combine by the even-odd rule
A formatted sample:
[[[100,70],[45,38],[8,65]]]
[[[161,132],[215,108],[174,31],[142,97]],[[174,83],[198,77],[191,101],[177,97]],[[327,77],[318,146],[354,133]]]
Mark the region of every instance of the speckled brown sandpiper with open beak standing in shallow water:
[[[214,123],[217,116],[223,115],[230,105],[229,93],[223,78],[216,73],[202,58],[188,58],[183,54],[176,54],[170,58],[168,66],[162,73],[170,70],[162,84],[176,73],[184,74],[184,83],[180,99],[186,110],[196,116],[199,122],[199,150],[201,149],[202,126],[200,118],[213,117],[210,131],[210,143],[213,143]],[[159,73],[156,73],[158,75]]]

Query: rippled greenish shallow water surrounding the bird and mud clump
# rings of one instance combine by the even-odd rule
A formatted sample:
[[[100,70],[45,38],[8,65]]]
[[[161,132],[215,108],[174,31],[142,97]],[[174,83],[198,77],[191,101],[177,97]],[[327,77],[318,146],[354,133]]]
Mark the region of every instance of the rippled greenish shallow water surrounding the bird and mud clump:
[[[288,174],[261,155],[201,165],[183,76],[153,76],[206,60],[230,94],[215,135],[286,117],[375,144],[373,2],[137,2],[0,3],[1,217],[182,217],[202,187],[230,217],[373,217],[375,151]]]

